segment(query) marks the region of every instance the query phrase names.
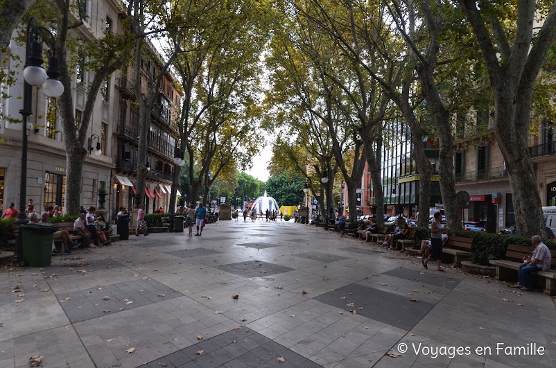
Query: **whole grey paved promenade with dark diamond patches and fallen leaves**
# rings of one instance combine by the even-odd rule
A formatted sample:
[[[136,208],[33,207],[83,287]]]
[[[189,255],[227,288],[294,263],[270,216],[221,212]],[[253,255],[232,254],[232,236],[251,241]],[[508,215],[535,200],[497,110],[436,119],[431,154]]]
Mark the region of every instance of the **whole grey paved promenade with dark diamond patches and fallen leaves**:
[[[293,222],[1,270],[0,304],[1,368],[556,366],[553,298]]]

